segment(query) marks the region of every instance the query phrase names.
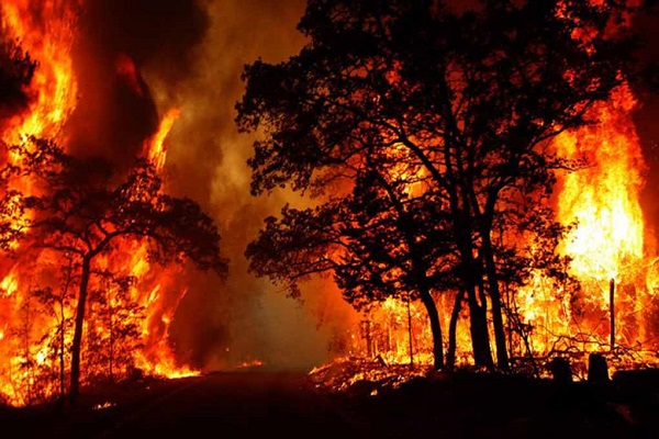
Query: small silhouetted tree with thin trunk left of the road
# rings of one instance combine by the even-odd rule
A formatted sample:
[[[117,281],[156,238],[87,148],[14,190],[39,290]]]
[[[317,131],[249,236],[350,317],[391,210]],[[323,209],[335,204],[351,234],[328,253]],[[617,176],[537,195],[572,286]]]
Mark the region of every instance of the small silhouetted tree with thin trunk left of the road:
[[[69,401],[75,404],[97,257],[137,239],[149,243],[148,256],[158,263],[190,259],[202,270],[224,275],[227,262],[220,256],[213,219],[194,201],[163,193],[161,180],[147,161],[137,160],[127,178],[118,180],[93,172],[88,162],[65,154],[51,140],[32,138],[10,149],[20,157],[19,165],[8,165],[2,176],[8,181],[29,177],[35,188],[31,193],[5,190],[0,204],[3,248],[23,240],[25,246],[75,258],[78,296],[69,389]]]

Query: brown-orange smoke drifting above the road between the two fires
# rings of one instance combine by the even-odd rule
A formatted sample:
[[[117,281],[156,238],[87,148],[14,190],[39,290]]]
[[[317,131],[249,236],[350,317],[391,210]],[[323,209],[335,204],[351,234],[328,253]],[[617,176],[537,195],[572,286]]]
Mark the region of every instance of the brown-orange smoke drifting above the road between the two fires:
[[[331,282],[316,282],[301,304],[247,273],[243,252],[267,215],[290,194],[253,198],[249,136],[234,125],[244,65],[299,52],[303,0],[89,0],[74,48],[80,99],[70,148],[129,166],[167,111],[179,119],[166,140],[168,192],[198,201],[215,219],[230,275],[221,282],[192,268],[171,327],[181,360],[219,369],[263,360],[310,368],[351,318]]]

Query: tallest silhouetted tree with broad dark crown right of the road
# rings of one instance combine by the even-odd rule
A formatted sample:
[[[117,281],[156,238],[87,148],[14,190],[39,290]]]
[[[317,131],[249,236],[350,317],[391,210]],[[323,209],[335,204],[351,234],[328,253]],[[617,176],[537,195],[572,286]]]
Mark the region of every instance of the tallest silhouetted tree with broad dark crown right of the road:
[[[498,364],[505,369],[501,269],[525,250],[510,239],[523,223],[509,222],[507,212],[532,194],[545,200],[554,172],[578,165],[557,157],[551,140],[595,123],[589,108],[625,81],[635,46],[611,29],[627,12],[606,0],[492,0],[462,12],[433,0],[311,0],[299,24],[308,37],[302,50],[244,71],[236,122],[243,132],[264,134],[248,161],[252,191],[289,185],[338,198],[357,191],[361,176],[381,176],[394,188],[404,181],[400,167],[407,177],[423,176],[424,200],[436,204],[423,207],[433,212],[424,227],[444,230],[451,249],[426,255],[447,258],[447,273],[459,280],[476,363],[493,365],[491,313]],[[407,198],[392,194],[391,212]],[[267,227],[276,230],[272,224]],[[412,224],[391,222],[389,232],[403,237]],[[386,250],[413,260],[415,244],[399,243]],[[428,279],[424,269],[440,264],[399,268],[418,270],[410,278],[416,283]],[[442,288],[429,279],[438,283],[428,288]]]

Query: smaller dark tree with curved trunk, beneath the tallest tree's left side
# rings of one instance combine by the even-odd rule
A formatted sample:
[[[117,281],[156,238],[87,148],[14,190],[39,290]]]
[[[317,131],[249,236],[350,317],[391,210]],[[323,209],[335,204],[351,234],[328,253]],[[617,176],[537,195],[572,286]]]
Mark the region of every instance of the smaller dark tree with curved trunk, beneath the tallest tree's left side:
[[[428,193],[405,194],[409,184],[399,182],[396,189],[371,172],[340,200],[308,210],[286,206],[280,221],[266,219],[246,257],[253,272],[289,285],[293,294],[299,280],[332,273],[358,311],[388,297],[420,299],[429,317],[435,367],[440,368],[443,337],[432,289],[448,278],[451,243],[442,228],[425,227],[440,216],[438,204],[427,202]]]

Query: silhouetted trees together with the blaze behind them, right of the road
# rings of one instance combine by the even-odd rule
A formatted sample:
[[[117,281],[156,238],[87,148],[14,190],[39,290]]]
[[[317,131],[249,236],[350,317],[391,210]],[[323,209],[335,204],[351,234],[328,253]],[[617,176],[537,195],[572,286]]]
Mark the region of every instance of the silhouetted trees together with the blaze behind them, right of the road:
[[[243,74],[253,193],[308,201],[266,218],[252,272],[333,279],[389,364],[656,365],[644,7],[310,1],[300,53]]]

